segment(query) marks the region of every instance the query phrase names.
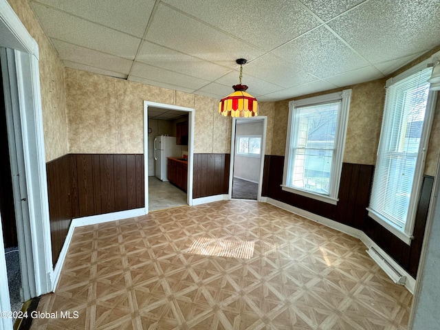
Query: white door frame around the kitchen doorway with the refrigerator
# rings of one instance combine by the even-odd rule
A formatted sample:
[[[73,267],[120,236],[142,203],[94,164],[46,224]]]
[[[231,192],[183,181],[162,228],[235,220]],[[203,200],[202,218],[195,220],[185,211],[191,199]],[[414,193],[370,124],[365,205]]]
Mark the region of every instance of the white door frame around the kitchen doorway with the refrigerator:
[[[194,108],[178,105],[144,101],[144,181],[145,181],[145,212],[148,213],[148,107],[188,112],[188,187],[186,203],[192,206],[192,177],[194,164]]]

